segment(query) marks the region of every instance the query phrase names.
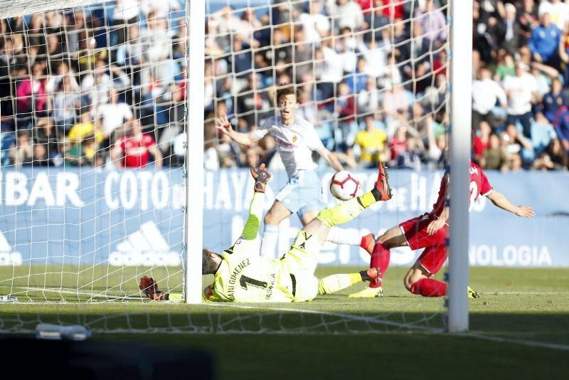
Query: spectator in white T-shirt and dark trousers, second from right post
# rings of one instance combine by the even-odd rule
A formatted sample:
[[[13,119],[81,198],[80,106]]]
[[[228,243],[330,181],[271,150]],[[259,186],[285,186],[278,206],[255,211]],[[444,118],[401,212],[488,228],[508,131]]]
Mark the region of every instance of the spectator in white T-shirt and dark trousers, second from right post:
[[[504,90],[508,96],[508,124],[520,122],[523,135],[531,137],[531,103],[538,99],[536,78],[527,73],[525,63],[517,63],[516,76],[504,79]]]

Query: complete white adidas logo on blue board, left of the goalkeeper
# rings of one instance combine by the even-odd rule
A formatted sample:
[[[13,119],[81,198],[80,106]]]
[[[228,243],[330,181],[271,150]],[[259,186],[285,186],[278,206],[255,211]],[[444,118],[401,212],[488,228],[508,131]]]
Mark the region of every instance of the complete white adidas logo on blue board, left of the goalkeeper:
[[[179,266],[179,253],[172,252],[168,241],[153,221],[147,221],[140,230],[131,233],[109,255],[112,266]]]

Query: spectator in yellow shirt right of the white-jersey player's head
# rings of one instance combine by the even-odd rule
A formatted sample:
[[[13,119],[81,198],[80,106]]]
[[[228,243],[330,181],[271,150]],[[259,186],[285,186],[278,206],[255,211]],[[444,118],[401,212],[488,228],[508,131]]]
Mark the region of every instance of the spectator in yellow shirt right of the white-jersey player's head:
[[[360,148],[361,167],[374,168],[379,162],[388,162],[389,146],[383,130],[373,126],[373,115],[364,118],[366,129],[356,134],[355,144]]]

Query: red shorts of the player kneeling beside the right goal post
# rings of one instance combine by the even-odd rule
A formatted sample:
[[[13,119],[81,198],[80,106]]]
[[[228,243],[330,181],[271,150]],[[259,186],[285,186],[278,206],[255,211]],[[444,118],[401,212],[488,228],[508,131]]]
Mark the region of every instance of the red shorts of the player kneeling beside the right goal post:
[[[436,216],[425,213],[399,225],[412,250],[425,248],[417,260],[432,275],[440,270],[448,257],[445,244],[448,226],[440,228],[433,235],[427,233],[427,226],[435,220]]]

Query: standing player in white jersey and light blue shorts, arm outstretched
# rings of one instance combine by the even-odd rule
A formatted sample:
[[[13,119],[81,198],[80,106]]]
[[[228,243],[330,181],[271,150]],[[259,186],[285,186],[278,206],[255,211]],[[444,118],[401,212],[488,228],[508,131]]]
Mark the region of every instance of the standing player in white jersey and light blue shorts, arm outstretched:
[[[326,206],[322,199],[321,181],[316,173],[317,164],[312,152],[318,152],[336,171],[344,170],[339,160],[320,141],[314,126],[297,117],[297,95],[294,88],[277,91],[277,105],[280,117],[270,117],[258,130],[242,133],[233,130],[226,115],[217,120],[218,130],[227,134],[239,144],[250,145],[267,134],[275,137],[277,152],[285,164],[289,181],[275,197],[265,215],[265,231],[261,241],[261,255],[275,257],[279,224],[296,213],[302,226],[312,221],[319,210]],[[361,236],[357,233],[334,227],[328,234],[328,241],[339,244],[359,245]]]

